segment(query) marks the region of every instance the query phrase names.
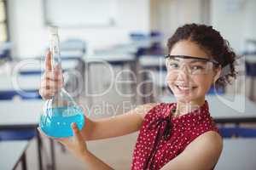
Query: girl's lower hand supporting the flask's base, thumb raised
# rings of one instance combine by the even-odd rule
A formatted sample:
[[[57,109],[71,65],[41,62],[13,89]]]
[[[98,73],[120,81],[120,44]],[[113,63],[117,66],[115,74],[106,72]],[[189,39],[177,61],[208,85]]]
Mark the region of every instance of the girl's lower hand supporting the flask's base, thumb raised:
[[[64,146],[67,147],[67,150],[72,152],[74,156],[77,156],[79,159],[83,159],[83,156],[88,152],[86,143],[84,142],[84,139],[79,132],[79,127],[76,123],[71,124],[72,131],[73,131],[73,137],[71,138],[52,138],[47,136],[40,128],[38,128],[38,131],[47,138],[54,139],[55,141],[60,142]]]

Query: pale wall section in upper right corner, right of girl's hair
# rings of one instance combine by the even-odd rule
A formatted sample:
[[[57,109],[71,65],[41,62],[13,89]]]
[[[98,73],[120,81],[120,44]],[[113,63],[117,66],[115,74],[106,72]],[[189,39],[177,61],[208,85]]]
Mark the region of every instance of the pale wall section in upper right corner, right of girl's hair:
[[[230,46],[241,53],[247,38],[256,39],[256,1],[212,0],[212,26],[230,42]]]

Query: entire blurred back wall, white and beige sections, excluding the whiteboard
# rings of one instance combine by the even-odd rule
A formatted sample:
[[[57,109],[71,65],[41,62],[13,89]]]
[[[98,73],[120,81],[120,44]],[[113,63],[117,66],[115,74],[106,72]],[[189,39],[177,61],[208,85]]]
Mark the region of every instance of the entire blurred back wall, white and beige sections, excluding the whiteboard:
[[[31,57],[42,53],[47,46],[48,34],[44,26],[44,0],[8,0],[11,40],[14,54]],[[61,39],[80,37],[92,48],[128,42],[130,31],[149,31],[151,28],[168,37],[184,23],[210,23],[230,41],[236,51],[244,49],[244,42],[256,38],[256,1],[209,0],[210,20],[202,16],[201,1],[206,0],[119,0],[118,25],[102,28],[63,28]],[[235,2],[235,3],[234,3]],[[241,3],[241,6],[236,5]],[[235,5],[234,5],[235,4]]]

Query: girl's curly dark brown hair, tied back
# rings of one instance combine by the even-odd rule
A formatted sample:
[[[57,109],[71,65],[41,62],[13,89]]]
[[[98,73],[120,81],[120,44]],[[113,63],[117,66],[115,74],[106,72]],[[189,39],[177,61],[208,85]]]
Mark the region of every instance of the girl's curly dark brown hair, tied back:
[[[224,88],[227,83],[231,82],[232,78],[236,78],[235,60],[237,55],[219,31],[214,30],[212,26],[194,23],[178,27],[172,37],[168,39],[168,54],[171,53],[177,42],[183,40],[195,42],[221,65],[223,71],[215,82],[216,88]]]

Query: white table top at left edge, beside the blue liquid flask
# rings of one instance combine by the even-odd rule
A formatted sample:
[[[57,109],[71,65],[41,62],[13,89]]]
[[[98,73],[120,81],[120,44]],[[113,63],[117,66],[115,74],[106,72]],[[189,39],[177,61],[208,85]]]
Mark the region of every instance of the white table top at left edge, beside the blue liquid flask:
[[[0,100],[0,127],[37,126],[44,100]]]

